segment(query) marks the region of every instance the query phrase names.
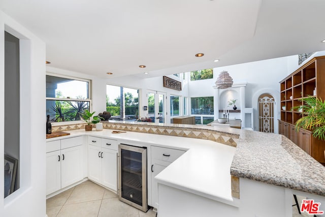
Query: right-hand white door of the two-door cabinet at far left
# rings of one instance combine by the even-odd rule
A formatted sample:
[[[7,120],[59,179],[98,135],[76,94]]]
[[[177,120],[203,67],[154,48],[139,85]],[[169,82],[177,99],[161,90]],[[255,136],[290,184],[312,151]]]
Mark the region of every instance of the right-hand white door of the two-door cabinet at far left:
[[[69,186],[83,178],[83,146],[61,150],[61,185]]]

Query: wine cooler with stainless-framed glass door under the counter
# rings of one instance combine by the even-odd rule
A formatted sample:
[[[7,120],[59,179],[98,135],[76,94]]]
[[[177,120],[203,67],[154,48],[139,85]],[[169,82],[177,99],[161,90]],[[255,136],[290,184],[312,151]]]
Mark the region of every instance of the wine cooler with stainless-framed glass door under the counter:
[[[119,144],[118,163],[119,200],[146,212],[147,148]]]

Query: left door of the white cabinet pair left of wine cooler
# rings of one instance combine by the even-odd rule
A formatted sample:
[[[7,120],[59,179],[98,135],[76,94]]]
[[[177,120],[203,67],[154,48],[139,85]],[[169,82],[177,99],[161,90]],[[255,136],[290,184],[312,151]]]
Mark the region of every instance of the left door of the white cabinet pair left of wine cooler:
[[[98,183],[102,181],[101,152],[101,147],[88,145],[88,178]]]

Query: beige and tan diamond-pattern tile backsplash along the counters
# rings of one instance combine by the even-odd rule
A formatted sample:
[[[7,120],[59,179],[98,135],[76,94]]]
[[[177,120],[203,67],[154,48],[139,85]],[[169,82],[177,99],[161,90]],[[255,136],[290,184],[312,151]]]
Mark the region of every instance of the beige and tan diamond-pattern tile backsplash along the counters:
[[[84,129],[84,123],[78,123],[73,125],[61,125],[52,126],[52,132],[70,131]],[[211,141],[219,142],[225,145],[233,147],[237,146],[239,135],[227,134],[214,130],[208,129],[195,129],[195,128],[182,128],[182,127],[165,127],[165,126],[154,126],[154,125],[132,125],[127,123],[110,123],[103,122],[104,129],[120,130],[120,131],[131,131],[138,133],[150,133],[159,134],[166,136],[180,136],[189,137],[196,139],[208,139]]]

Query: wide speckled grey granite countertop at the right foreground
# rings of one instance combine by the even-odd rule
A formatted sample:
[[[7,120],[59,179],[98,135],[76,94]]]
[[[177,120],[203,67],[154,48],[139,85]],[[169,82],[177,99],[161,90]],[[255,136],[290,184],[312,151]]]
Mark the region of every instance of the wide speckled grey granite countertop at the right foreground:
[[[325,167],[283,135],[242,130],[230,172],[325,196]]]

